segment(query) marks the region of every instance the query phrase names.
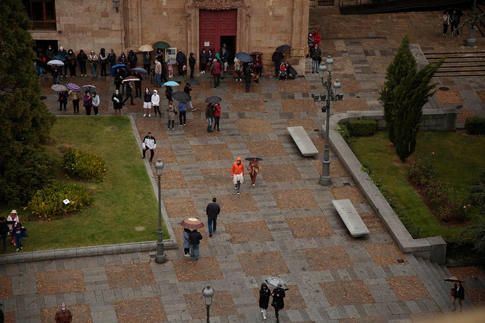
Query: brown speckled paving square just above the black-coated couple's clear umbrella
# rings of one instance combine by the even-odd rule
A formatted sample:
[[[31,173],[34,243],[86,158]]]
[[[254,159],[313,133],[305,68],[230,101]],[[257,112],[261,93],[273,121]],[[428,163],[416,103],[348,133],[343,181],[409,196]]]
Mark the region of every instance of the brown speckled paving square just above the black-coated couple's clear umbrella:
[[[238,255],[247,277],[288,274],[290,271],[279,251],[244,253]]]

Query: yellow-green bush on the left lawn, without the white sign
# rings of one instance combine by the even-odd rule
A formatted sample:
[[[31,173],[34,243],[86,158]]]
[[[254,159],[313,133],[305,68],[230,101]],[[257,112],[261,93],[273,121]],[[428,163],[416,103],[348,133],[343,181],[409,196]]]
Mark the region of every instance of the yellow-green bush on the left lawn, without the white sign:
[[[69,148],[64,153],[62,167],[81,180],[102,182],[105,178],[106,163],[97,154]]]

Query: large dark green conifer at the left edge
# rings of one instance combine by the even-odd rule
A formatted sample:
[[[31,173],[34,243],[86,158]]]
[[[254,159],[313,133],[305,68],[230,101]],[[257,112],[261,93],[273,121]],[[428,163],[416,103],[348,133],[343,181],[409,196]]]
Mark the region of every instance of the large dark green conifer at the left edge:
[[[21,0],[0,1],[0,204],[26,203],[50,178],[43,151],[54,116],[40,100],[33,40]]]

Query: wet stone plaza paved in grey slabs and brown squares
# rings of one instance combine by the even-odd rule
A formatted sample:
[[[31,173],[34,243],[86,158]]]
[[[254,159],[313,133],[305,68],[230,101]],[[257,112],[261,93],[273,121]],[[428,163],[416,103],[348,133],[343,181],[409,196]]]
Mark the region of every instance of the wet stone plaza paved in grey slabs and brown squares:
[[[323,14],[332,16],[325,28],[318,24]],[[343,101],[332,104],[332,113],[379,108],[377,91],[405,31],[418,43],[441,50],[445,44],[439,31],[416,30],[417,25],[426,26],[418,21],[436,15],[339,17],[335,8],[312,10],[310,28],[323,31],[323,53],[335,57],[334,75],[345,93]],[[464,50],[456,39],[448,39],[446,45]],[[210,89],[207,74],[197,79],[202,83],[192,92],[197,111],[188,112],[183,128],[166,130],[165,117],[143,118],[139,99],[127,107],[135,120],[135,135],[143,138],[151,131],[157,138],[155,159],[165,163],[162,201],[178,244],[182,243],[178,223],[183,218],[197,215],[206,221],[205,207],[212,197],[221,204],[213,237],[207,228],[202,231],[199,260],[184,257],[179,248],[166,251],[164,264],[155,263],[154,252],[136,252],[0,265],[0,303],[6,322],[53,322],[61,302],[73,312],[73,322],[205,322],[202,290],[207,284],[215,290],[211,322],[263,322],[258,290],[270,276],[289,284],[280,312],[280,322],[287,323],[409,322],[454,315],[451,284],[441,281],[452,274],[468,278],[466,310],[485,305],[484,271],[449,272],[403,254],[332,152],[332,185],[318,183],[324,142],[319,125],[324,116],[310,98],[311,92],[322,91],[316,75],[288,81],[266,76],[259,85],[253,84],[251,93],[244,93],[243,83],[230,76],[217,90]],[[483,116],[483,80],[439,78],[436,81],[454,93],[438,94],[429,105],[462,104],[460,120],[471,114]],[[89,79],[89,83],[101,90],[100,113],[112,114],[112,79]],[[149,82],[144,81],[145,86]],[[49,87],[46,81],[45,88]],[[55,95],[50,90],[46,94],[57,114]],[[203,102],[210,95],[223,98],[220,133],[206,132]],[[71,102],[68,108],[72,109]],[[297,125],[307,130],[318,156],[300,154],[286,130]],[[237,196],[230,167],[237,156],[249,154],[263,158],[262,171],[256,186],[246,176]],[[350,199],[371,234],[352,238],[332,206],[334,199]],[[266,322],[275,322],[271,307]]]

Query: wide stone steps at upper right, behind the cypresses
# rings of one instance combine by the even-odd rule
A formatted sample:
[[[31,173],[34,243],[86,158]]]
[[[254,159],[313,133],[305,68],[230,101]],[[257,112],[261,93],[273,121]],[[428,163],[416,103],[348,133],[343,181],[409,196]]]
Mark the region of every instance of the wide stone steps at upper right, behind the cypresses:
[[[448,56],[435,77],[482,76],[485,74],[485,53],[480,51],[423,52],[428,62]]]

